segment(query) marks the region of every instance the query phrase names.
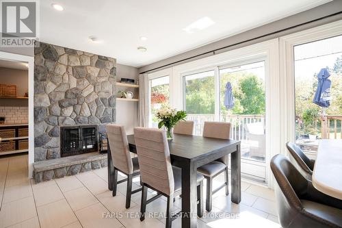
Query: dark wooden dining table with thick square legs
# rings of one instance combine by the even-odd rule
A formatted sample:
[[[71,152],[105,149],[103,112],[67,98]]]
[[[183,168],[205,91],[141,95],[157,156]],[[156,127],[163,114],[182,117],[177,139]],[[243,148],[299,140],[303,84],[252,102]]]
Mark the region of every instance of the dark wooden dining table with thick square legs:
[[[136,153],[133,135],[127,136],[129,150]],[[241,201],[240,141],[174,134],[169,142],[170,157],[182,169],[182,227],[197,226],[197,168],[231,154],[231,201]],[[112,190],[114,167],[108,153],[108,188]]]

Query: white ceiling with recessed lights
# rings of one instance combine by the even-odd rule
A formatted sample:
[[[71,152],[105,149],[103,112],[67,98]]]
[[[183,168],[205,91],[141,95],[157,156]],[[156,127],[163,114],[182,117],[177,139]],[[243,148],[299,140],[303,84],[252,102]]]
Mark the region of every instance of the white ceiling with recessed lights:
[[[44,0],[40,40],[144,66],[206,45],[330,0]],[[51,7],[58,3],[64,11]],[[203,17],[215,24],[188,34],[183,29]],[[91,42],[98,36],[101,43]],[[140,40],[146,36],[148,40]],[[144,46],[148,51],[137,51]]]

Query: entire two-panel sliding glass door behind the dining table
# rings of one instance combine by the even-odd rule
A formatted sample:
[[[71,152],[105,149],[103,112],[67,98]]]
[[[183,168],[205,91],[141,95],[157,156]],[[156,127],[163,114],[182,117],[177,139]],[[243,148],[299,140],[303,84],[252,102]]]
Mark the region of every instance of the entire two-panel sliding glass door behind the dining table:
[[[264,60],[183,75],[183,105],[197,136],[202,136],[205,121],[231,123],[231,138],[241,140],[241,172],[265,181]]]

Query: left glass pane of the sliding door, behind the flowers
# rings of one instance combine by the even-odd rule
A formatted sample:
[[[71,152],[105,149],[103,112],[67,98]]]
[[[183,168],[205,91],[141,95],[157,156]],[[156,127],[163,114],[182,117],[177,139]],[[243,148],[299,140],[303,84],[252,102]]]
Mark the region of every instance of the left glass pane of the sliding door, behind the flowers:
[[[187,75],[183,80],[187,120],[194,121],[194,134],[202,136],[205,121],[214,121],[215,118],[214,71]]]

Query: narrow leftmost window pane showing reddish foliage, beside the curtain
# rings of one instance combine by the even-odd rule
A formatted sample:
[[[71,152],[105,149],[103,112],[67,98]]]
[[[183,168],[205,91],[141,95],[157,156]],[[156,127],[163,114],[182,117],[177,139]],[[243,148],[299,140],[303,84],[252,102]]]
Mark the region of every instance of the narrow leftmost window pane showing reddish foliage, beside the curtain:
[[[150,125],[158,127],[158,120],[155,116],[157,110],[163,105],[169,104],[170,86],[169,76],[158,77],[150,80]]]

